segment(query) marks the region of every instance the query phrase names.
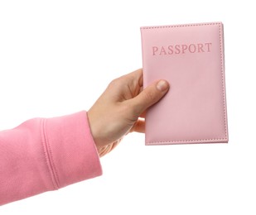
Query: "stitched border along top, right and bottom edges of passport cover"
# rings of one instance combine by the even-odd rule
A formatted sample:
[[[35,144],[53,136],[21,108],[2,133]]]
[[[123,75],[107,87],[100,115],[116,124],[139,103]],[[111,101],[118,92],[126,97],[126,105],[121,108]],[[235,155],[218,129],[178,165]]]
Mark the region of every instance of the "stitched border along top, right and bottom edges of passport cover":
[[[225,111],[225,87],[224,87],[224,68],[223,68],[223,55],[222,55],[222,39],[221,39],[221,30],[220,22],[211,22],[211,23],[198,23],[198,24],[186,24],[186,25],[174,25],[174,26],[144,26],[141,29],[154,29],[154,28],[172,28],[172,27],[186,27],[186,26],[219,26],[219,36],[220,36],[220,64],[221,64],[221,77],[222,77],[222,93],[223,93],[223,108],[224,108],[224,124],[225,124],[225,137],[224,138],[213,138],[213,139],[201,139],[201,140],[186,140],[186,141],[152,141],[147,142],[147,144],[153,143],[164,143],[164,142],[191,142],[191,141],[225,141],[227,139],[227,119]]]

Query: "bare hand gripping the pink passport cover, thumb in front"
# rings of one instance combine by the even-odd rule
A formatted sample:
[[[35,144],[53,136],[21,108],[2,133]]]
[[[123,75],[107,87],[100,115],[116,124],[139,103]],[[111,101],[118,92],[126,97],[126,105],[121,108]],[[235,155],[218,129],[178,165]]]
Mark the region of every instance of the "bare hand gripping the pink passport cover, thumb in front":
[[[89,109],[89,125],[100,156],[113,150],[128,132],[145,132],[142,113],[169,89],[165,80],[144,90],[142,84],[142,69],[114,79]]]

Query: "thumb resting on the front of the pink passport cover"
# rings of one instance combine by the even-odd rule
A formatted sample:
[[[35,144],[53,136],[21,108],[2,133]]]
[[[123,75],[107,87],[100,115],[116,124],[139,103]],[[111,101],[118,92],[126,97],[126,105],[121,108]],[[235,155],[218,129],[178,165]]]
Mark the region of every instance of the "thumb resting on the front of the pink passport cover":
[[[133,98],[134,111],[139,115],[147,108],[157,103],[168,91],[169,84],[166,80],[159,80],[143,89],[137,97]]]

